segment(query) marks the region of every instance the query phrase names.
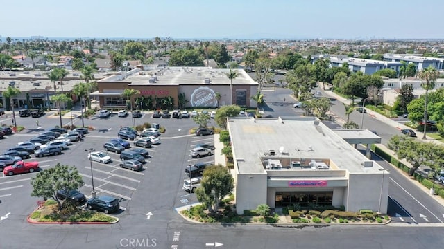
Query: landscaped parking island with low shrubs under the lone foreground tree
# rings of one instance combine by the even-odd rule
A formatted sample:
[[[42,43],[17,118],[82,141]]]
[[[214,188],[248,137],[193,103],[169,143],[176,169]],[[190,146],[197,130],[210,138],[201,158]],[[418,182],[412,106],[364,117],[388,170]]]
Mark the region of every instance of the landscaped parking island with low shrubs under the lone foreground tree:
[[[35,224],[113,224],[119,219],[94,210],[83,210],[67,207],[58,210],[56,201],[38,201],[39,207],[27,218],[29,223]]]

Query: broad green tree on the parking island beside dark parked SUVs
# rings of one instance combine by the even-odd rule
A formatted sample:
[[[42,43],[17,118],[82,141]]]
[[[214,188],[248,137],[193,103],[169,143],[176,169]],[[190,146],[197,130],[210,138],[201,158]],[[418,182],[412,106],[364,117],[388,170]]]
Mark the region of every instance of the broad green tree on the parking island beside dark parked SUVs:
[[[58,198],[57,192],[63,190],[76,190],[83,186],[82,176],[75,166],[60,165],[40,171],[31,179],[33,191],[31,196],[42,197],[44,199],[54,199],[58,203],[59,210],[62,209],[62,202]]]

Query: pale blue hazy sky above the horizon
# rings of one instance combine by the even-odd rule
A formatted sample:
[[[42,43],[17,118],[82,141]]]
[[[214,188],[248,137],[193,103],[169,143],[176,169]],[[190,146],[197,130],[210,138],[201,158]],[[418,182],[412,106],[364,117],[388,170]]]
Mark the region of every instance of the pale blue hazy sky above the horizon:
[[[6,37],[441,39],[443,0],[2,1]]]

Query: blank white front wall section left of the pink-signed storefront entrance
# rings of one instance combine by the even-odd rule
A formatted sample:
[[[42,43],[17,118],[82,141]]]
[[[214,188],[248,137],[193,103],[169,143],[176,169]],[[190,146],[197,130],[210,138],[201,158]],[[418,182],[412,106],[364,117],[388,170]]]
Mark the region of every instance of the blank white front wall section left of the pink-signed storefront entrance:
[[[266,174],[237,174],[236,210],[255,210],[258,205],[267,203]]]

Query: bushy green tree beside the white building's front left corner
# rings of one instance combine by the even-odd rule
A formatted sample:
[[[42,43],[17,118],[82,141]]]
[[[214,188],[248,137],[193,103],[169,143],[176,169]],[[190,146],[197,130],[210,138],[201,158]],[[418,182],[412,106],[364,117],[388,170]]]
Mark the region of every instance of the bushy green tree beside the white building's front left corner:
[[[226,167],[214,165],[205,168],[200,186],[196,190],[198,201],[214,213],[219,201],[222,201],[234,189],[234,180]]]

